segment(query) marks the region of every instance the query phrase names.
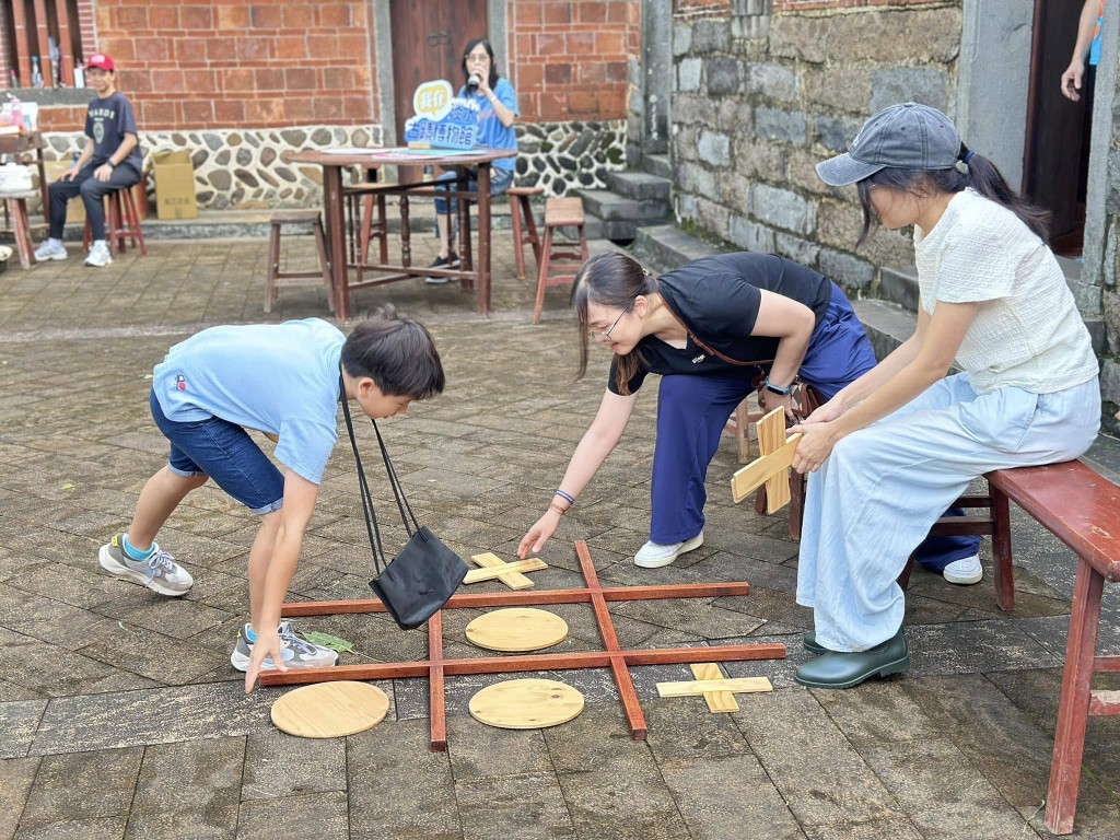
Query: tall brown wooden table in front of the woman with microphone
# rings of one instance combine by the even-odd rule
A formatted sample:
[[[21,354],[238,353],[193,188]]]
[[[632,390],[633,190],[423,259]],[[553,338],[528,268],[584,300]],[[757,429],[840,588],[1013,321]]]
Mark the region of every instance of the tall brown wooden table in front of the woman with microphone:
[[[431,157],[405,158],[388,153],[353,153],[334,155],[323,150],[305,149],[284,156],[292,164],[314,164],[323,167],[323,211],[327,235],[327,252],[330,259],[330,273],[335,286],[335,306],[339,320],[349,317],[349,292],[353,289],[366,289],[373,286],[405,280],[414,277],[446,277],[461,282],[464,290],[469,290],[474,281],[478,281],[478,311],[483,315],[491,309],[491,164],[502,158],[516,156],[512,149],[486,149],[477,155],[440,156],[433,149]],[[438,166],[454,168],[457,175],[456,188],[447,190],[448,198],[459,198],[459,243],[460,264],[458,270],[429,269],[412,264],[412,251],[409,232],[409,194],[416,189],[430,192],[435,181],[413,184],[377,184],[372,185],[377,192],[400,196],[401,209],[401,262],[366,264],[367,271],[390,272],[388,277],[379,277],[360,283],[349,282],[349,264],[346,260],[346,220],[345,196],[343,194],[343,169],[347,167],[364,167],[366,169],[385,166],[417,167]],[[467,189],[470,170],[477,170],[478,192]],[[470,209],[469,202],[478,202],[478,265],[472,265],[470,254]]]

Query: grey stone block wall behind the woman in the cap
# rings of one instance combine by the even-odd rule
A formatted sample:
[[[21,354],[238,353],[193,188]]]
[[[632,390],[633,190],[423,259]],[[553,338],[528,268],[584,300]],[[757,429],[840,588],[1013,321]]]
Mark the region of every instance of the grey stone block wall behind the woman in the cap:
[[[959,2],[772,15],[763,0],[732,0],[720,16],[678,12],[678,216],[874,293],[879,267],[913,262],[909,232],[872,226],[857,250],[855,187],[828,187],[813,167],[878,109],[916,100],[951,111],[960,43]]]

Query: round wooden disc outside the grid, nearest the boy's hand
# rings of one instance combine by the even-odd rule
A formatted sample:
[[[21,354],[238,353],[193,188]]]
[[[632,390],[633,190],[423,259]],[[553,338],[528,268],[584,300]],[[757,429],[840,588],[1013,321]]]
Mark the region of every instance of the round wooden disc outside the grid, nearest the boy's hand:
[[[320,682],[289,691],[272,703],[272,722],[300,738],[339,738],[376,726],[389,698],[365,682]]]

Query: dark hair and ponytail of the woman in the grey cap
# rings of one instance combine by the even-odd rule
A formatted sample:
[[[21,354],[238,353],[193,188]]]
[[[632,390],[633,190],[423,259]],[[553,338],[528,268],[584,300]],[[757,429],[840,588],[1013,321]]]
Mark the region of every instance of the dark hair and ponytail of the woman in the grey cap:
[[[887,187],[899,193],[927,196],[933,192],[960,193],[972,188],[984,198],[1007,207],[1044,243],[1049,241],[1049,211],[1038,207],[1011,189],[999,169],[988,158],[969,151],[961,143],[960,156],[952,169],[896,169],[887,167],[857,184],[864,208],[864,231],[857,246],[871,228],[871,187]]]

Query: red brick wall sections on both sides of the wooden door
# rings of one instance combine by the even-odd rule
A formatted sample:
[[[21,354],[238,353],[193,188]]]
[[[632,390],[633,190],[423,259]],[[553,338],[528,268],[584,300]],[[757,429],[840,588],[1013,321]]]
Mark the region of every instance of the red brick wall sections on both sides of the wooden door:
[[[417,0],[418,2],[422,0]],[[683,1],[683,0],[682,0]],[[717,0],[727,2],[727,0]],[[368,0],[81,0],[144,130],[379,122]],[[92,12],[91,12],[92,6]],[[624,120],[641,0],[508,0],[522,120]],[[88,18],[88,20],[86,20]],[[85,106],[40,112],[81,130]]]

